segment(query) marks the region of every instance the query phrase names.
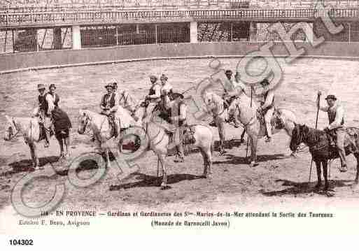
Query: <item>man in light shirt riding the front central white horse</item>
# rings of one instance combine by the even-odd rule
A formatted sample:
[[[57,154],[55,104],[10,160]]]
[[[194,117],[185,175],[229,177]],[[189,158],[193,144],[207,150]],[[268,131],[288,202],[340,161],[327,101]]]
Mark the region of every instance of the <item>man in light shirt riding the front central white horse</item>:
[[[170,110],[171,124],[176,127],[173,144],[176,145],[177,157],[179,159],[177,162],[184,162],[183,132],[187,125],[187,105],[185,104],[183,94],[178,94],[173,101],[169,99],[168,94],[167,90],[164,90],[164,107]],[[171,146],[169,148],[171,148]]]

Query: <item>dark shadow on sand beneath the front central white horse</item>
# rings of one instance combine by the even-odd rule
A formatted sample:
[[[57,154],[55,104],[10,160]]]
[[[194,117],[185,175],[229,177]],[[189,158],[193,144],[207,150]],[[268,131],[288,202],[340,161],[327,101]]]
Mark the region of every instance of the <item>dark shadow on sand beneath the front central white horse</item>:
[[[143,173],[132,173],[132,177],[136,175],[137,182],[129,182],[121,185],[111,185],[110,191],[116,191],[119,189],[129,189],[134,187],[160,187],[162,182],[162,177],[157,177],[153,175],[146,175]],[[204,178],[203,176],[192,175],[192,174],[171,174],[167,176],[167,184],[176,184],[183,180],[198,180]],[[171,187],[168,187],[171,188]]]

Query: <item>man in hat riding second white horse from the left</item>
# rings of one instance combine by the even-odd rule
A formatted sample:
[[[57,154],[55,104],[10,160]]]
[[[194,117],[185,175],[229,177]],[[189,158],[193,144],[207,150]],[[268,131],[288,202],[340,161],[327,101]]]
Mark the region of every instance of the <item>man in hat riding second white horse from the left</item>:
[[[120,123],[116,116],[118,110],[118,95],[114,92],[115,87],[113,83],[105,85],[107,93],[102,96],[100,108],[101,114],[106,115],[109,118],[109,122],[113,126],[113,136],[117,138],[120,130]]]

